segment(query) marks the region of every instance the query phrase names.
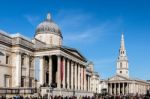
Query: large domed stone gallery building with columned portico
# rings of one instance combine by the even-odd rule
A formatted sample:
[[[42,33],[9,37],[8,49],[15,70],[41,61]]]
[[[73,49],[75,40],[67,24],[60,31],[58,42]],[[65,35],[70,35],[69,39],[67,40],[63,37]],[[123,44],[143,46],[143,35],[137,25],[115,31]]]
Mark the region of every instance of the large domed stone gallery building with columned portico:
[[[32,94],[36,88],[42,96],[93,96],[93,67],[77,49],[62,42],[50,14],[32,40],[0,31],[0,94]]]

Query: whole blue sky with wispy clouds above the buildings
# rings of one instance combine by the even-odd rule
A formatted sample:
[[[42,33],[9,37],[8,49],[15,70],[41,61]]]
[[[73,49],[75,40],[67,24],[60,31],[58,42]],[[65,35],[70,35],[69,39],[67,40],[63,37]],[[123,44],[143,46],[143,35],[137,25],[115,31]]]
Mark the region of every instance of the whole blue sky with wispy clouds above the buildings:
[[[77,48],[106,79],[115,74],[121,33],[130,75],[150,79],[149,0],[0,0],[0,29],[33,38],[50,12],[64,45]]]

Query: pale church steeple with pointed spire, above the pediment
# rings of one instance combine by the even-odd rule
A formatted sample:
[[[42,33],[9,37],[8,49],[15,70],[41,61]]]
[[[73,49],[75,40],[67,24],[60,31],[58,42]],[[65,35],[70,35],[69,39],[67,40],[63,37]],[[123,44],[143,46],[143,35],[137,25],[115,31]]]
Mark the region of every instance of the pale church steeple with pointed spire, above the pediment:
[[[117,59],[117,74],[129,77],[129,69],[128,69],[128,58],[125,49],[124,35],[121,36],[121,45],[119,49],[119,57]]]

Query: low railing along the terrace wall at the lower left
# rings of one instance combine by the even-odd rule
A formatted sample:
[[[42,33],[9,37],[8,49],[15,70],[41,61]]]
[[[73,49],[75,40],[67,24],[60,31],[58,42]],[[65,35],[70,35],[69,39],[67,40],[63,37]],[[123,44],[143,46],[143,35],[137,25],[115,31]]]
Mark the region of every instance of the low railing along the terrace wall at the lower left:
[[[35,88],[0,88],[0,94],[33,94],[36,92]]]

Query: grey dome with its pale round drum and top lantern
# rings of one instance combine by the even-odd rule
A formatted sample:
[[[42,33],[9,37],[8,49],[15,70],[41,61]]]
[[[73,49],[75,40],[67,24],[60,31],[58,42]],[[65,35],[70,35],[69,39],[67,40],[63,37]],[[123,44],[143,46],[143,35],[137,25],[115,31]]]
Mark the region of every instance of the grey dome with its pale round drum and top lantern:
[[[37,26],[35,38],[53,46],[62,45],[63,37],[61,31],[58,25],[52,20],[50,13],[48,13],[46,19]]]

